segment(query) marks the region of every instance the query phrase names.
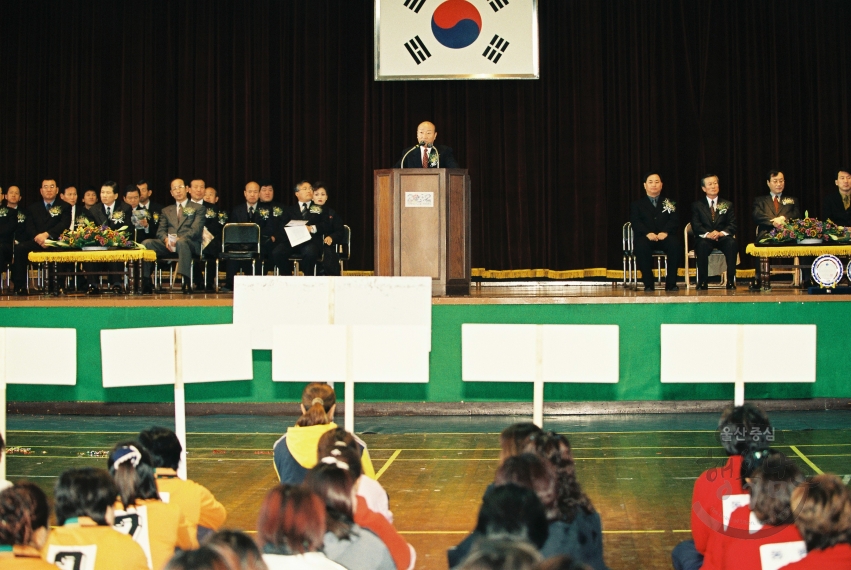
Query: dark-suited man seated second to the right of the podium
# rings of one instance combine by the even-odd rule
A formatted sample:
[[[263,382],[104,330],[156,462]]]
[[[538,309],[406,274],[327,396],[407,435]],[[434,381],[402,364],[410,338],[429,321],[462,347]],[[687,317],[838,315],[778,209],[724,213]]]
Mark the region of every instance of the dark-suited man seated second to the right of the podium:
[[[709,254],[719,249],[727,259],[727,289],[736,288],[736,257],[739,244],[736,242],[736,213],[733,204],[719,200],[718,176],[707,174],[700,181],[706,198],[691,205],[691,228],[696,240],[697,288],[708,289]]]

